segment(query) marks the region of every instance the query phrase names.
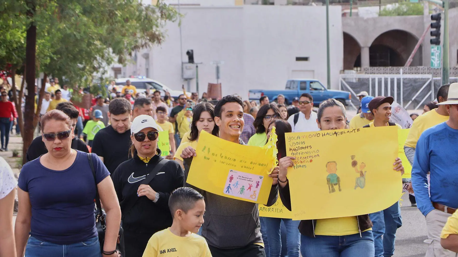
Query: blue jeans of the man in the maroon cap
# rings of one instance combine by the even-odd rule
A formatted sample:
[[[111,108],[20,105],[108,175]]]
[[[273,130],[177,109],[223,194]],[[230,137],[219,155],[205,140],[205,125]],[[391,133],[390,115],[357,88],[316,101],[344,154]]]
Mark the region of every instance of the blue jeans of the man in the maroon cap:
[[[399,202],[382,211],[369,214],[374,226],[375,257],[391,257],[394,253],[396,230],[402,226]],[[382,237],[383,236],[383,237]]]

